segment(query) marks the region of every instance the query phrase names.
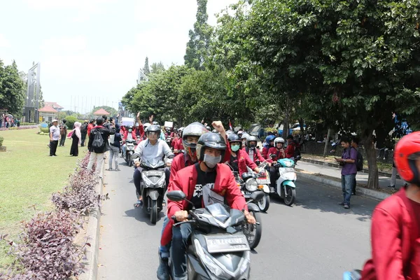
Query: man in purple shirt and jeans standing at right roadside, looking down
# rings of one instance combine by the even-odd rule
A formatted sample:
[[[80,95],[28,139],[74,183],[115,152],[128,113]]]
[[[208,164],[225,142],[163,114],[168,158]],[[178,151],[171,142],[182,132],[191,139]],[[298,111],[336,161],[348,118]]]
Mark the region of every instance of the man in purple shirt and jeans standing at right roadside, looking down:
[[[344,206],[345,209],[350,208],[351,191],[353,190],[353,183],[356,179],[357,167],[357,151],[351,148],[349,139],[343,137],[341,139],[343,154],[341,158],[335,158],[340,165],[342,165],[342,191],[343,202],[339,205]]]

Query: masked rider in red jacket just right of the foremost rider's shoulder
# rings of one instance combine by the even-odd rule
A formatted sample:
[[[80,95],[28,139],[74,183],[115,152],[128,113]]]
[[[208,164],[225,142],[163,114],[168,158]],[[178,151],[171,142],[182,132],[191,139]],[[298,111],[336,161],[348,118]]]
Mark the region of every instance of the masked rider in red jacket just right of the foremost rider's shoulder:
[[[241,150],[242,141],[236,134],[230,134],[229,138],[230,144],[230,159],[228,163],[232,167],[234,172],[238,172],[239,176],[248,172],[247,166],[250,167],[253,171],[260,173],[260,169],[255,162],[253,162],[246,151]],[[264,171],[261,171],[261,174],[265,175]]]

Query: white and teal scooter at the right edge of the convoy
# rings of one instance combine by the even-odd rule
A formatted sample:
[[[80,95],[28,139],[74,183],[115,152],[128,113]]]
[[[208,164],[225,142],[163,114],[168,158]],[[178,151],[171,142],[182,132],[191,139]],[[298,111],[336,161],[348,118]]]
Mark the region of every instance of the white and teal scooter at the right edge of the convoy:
[[[282,158],[273,165],[274,168],[279,169],[279,179],[276,181],[276,186],[273,186],[274,193],[279,195],[284,200],[284,204],[288,206],[291,206],[296,199],[295,181],[297,177],[294,169],[295,164],[294,160]]]

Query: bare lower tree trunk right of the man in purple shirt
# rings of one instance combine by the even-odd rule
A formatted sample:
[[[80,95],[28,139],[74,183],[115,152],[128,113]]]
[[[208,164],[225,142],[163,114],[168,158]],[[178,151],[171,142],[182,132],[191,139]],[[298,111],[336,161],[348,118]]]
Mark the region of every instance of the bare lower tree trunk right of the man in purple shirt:
[[[373,144],[373,130],[367,129],[363,133],[363,146],[367,155],[367,165],[369,166],[369,179],[367,179],[367,188],[379,189],[379,176],[377,166],[377,155]]]

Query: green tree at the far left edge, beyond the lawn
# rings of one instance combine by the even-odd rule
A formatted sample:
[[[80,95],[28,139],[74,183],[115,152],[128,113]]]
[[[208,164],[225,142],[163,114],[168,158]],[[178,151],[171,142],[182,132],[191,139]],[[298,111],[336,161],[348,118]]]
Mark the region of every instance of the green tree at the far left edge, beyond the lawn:
[[[25,84],[19,76],[18,65],[3,66],[0,60],[0,104],[8,113],[20,116],[25,104]]]

